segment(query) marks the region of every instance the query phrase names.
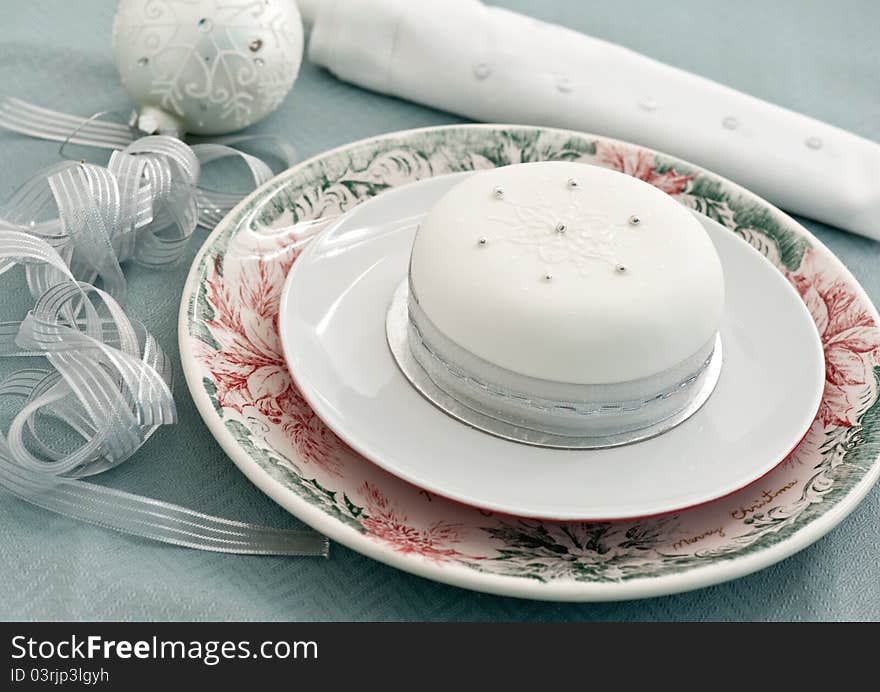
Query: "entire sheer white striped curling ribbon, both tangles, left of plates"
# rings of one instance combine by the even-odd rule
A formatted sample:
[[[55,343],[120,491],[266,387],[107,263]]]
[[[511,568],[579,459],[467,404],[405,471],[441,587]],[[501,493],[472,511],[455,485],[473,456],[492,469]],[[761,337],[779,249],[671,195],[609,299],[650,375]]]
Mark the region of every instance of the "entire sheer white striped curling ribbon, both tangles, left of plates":
[[[51,166],[0,207],[0,274],[23,265],[35,300],[20,323],[0,322],[0,357],[41,356],[51,367],[0,381],[0,397],[23,400],[0,432],[0,486],[59,514],[175,545],[326,555],[327,539],[313,531],[213,517],[83,480],[123,463],[176,419],[171,363],[118,302],[126,290],[121,262],[159,267],[177,261],[197,225],[213,225],[243,197],[199,190],[202,163],[240,156],[255,184],[268,180],[272,171],[264,162],[230,146],[251,138],[194,147],[163,136],[126,142],[122,126],[83,125],[22,102],[10,111],[9,104],[0,103],[0,125],[12,120],[10,129],[26,134],[117,151],[106,167]],[[70,136],[75,128],[78,134]],[[97,278],[104,290],[91,284]],[[81,443],[72,450],[53,447],[41,433],[45,419],[63,423]]]

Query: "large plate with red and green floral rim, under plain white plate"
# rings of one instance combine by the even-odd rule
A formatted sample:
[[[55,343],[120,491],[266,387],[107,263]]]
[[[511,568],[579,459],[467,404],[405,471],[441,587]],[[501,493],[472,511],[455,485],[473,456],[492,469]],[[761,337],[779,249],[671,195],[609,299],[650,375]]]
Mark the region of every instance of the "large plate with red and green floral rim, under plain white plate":
[[[277,312],[285,275],[310,235],[390,187],[548,159],[609,166],[657,185],[744,238],[797,289],[822,337],[825,392],[803,442],[769,475],[703,507],[653,519],[522,519],[399,480],[347,448],[309,409],[285,367]],[[253,193],[193,264],[181,303],[180,350],[196,405],[232,460],[333,540],[481,591],[617,600],[748,574],[809,545],[853,510],[880,475],[878,317],[816,238],[723,178],[594,135],[468,125],[357,142]]]

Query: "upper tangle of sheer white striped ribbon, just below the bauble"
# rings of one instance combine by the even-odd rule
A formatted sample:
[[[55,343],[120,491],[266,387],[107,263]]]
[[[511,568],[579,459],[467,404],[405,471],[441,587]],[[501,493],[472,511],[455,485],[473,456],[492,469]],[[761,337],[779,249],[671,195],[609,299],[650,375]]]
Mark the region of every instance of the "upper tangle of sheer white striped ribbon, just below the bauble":
[[[119,123],[81,118],[0,99],[0,127],[65,145],[114,149],[106,167],[65,161],[33,176],[0,207],[0,221],[26,226],[59,250],[78,279],[98,276],[124,300],[120,263],[161,267],[180,259],[197,226],[213,228],[250,190],[198,187],[201,166],[241,159],[251,189],[272,176],[261,159],[233,145],[265,142],[289,167],[297,159],[286,141],[269,135],[232,135],[188,146],[169,136]],[[43,221],[46,210],[50,219]]]

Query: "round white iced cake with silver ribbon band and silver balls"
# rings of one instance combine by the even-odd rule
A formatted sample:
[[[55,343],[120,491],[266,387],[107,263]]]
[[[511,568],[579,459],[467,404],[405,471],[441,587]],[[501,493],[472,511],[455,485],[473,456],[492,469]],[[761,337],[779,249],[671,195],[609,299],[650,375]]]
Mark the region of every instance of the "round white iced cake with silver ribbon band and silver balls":
[[[431,208],[407,342],[453,415],[525,442],[608,446],[705,401],[723,303],[715,247],[667,194],[596,166],[527,163],[475,173]]]

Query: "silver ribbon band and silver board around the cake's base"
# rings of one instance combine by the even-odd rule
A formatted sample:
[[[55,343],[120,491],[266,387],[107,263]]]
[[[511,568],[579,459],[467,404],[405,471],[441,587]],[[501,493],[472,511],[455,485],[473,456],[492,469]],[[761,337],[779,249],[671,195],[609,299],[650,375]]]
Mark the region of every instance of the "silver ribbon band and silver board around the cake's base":
[[[386,326],[398,365],[432,403],[485,432],[547,447],[611,447],[658,435],[696,412],[721,372],[716,335],[678,365],[637,380],[583,385],[522,375],[442,334],[408,281]]]

